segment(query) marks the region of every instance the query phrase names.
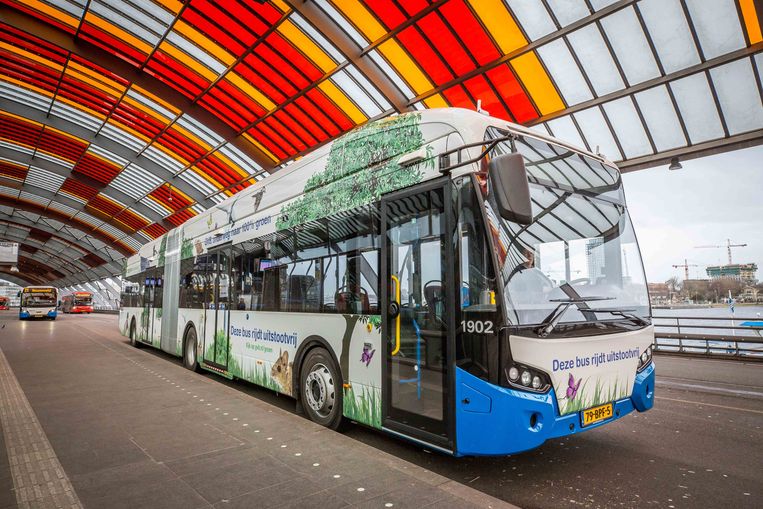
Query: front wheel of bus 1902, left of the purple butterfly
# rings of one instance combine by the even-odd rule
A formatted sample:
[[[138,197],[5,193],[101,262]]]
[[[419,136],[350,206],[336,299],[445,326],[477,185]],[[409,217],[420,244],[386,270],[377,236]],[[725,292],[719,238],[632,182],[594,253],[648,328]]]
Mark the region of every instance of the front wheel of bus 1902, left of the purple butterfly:
[[[338,430],[342,424],[342,379],[323,348],[308,352],[300,370],[302,406],[314,422]]]

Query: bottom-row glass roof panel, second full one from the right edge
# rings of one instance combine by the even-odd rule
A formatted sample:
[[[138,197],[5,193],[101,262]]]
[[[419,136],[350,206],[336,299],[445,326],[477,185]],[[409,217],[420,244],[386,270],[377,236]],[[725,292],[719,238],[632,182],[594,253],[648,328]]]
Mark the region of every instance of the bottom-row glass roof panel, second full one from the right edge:
[[[723,128],[705,73],[670,83],[692,143],[723,137]]]

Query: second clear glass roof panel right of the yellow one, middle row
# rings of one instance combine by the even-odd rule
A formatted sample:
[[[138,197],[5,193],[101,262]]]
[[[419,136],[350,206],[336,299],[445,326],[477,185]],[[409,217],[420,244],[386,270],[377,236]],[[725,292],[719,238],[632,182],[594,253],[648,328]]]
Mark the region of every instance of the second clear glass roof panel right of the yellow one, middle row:
[[[595,24],[572,32],[568,39],[597,96],[625,87],[615,61]]]

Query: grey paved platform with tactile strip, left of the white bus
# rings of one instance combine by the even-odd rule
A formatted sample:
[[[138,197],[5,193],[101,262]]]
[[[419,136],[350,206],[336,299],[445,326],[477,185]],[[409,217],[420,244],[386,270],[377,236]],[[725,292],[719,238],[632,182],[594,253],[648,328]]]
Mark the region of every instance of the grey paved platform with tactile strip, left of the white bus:
[[[513,507],[135,349],[115,316],[0,313],[0,508]]]

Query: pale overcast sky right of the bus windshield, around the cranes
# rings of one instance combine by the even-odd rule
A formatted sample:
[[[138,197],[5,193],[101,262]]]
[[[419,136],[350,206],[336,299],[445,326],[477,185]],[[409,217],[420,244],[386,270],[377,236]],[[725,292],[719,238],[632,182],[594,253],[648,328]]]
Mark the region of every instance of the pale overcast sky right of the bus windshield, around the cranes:
[[[626,200],[636,229],[649,282],[671,276],[707,277],[705,267],[728,263],[726,239],[734,263],[763,268],[763,146],[682,161],[623,175]],[[695,249],[718,244],[723,249]],[[758,269],[758,280],[763,279]]]

